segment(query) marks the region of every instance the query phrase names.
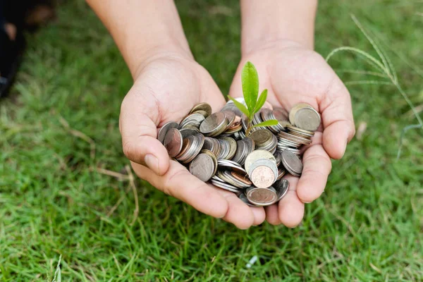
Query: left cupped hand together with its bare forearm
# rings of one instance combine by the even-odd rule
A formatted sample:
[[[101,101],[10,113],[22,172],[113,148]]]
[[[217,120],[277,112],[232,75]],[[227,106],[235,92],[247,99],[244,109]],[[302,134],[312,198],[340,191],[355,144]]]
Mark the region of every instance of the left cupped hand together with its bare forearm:
[[[133,75],[123,99],[119,128],[123,152],[135,173],[157,189],[204,214],[238,228],[262,223],[263,208],[251,208],[232,192],[214,188],[168,157],[157,128],[180,122],[192,106],[207,102],[219,111],[225,100],[207,71],[195,62],[178,11],[168,0],[87,0],[114,37]]]

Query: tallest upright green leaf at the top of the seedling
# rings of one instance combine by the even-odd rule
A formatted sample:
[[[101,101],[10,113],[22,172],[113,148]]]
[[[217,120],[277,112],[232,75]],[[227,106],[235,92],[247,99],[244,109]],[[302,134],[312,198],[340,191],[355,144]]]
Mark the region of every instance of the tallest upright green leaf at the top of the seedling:
[[[245,104],[247,104],[250,112],[253,112],[257,104],[257,96],[259,95],[259,75],[250,61],[245,63],[241,73],[241,82],[243,82]]]

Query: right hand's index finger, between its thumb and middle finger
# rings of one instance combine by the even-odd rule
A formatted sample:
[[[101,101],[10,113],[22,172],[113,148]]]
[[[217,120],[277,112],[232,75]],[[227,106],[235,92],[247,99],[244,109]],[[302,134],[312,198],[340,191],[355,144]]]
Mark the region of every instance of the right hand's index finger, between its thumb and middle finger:
[[[302,164],[297,195],[301,202],[309,203],[320,197],[324,191],[332,168],[331,159],[321,146],[321,133],[315,133],[312,145],[305,149]]]

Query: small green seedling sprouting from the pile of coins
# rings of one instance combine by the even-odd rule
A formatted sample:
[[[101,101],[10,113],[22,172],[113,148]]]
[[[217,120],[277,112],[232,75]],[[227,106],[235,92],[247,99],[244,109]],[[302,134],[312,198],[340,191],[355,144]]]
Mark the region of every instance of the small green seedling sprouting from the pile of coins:
[[[264,102],[266,102],[267,90],[263,90],[259,97],[259,75],[257,74],[255,66],[250,61],[245,63],[243,73],[241,73],[241,81],[243,82],[243,95],[245,104],[247,106],[244,106],[244,104],[236,101],[230,96],[228,96],[228,98],[233,101],[235,106],[240,109],[240,111],[242,111],[245,116],[247,116],[248,122],[247,130],[245,130],[245,136],[250,135],[251,128],[257,126],[277,125],[278,121],[276,121],[276,119],[271,119],[269,121],[263,121],[262,123],[252,125],[252,118],[257,113],[257,111],[262,108]]]

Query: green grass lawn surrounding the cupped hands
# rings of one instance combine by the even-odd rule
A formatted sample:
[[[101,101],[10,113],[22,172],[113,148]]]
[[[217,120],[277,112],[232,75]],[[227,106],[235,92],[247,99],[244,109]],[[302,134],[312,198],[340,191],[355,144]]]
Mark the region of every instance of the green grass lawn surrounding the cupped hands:
[[[238,1],[177,4],[192,52],[228,92],[240,59]],[[354,13],[422,105],[419,12],[421,1],[321,1],[316,49],[376,56]],[[28,37],[16,85],[0,101],[0,281],[51,281],[60,255],[63,281],[423,281],[422,130],[407,132],[396,161],[401,130],[417,121],[394,87],[349,86],[357,127],[367,129],[333,162],[298,228],[240,231],[138,179],[134,221],[130,177],[100,169],[128,166],[118,115],[130,74],[85,2],[58,13]],[[374,79],[343,73],[372,71],[353,54],[331,64],[345,81]]]

